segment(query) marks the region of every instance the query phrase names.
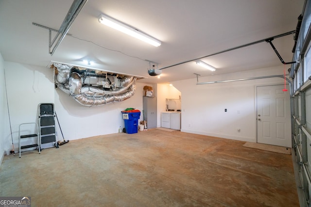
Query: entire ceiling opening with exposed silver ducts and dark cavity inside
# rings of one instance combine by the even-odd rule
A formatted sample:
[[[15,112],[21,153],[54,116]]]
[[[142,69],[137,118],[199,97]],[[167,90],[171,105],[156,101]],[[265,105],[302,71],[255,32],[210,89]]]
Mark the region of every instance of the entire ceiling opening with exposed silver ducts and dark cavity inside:
[[[101,106],[126,100],[135,94],[134,76],[99,73],[95,70],[54,64],[55,85],[84,106]],[[73,72],[74,71],[74,72]]]

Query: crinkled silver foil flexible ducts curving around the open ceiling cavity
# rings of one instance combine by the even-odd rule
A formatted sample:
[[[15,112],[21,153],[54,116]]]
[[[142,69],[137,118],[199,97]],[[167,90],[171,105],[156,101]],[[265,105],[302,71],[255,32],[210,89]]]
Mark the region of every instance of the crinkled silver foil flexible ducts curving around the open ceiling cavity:
[[[79,71],[77,72],[75,67],[66,67],[63,64],[54,64],[54,66],[57,67],[58,70],[55,80],[56,86],[84,106],[92,107],[111,102],[120,102],[133,96],[136,91],[135,80],[137,78],[133,76],[119,77],[121,82],[120,88],[112,87],[112,89],[104,90],[100,87],[93,87],[90,85],[84,86],[84,81],[81,77],[83,74]]]

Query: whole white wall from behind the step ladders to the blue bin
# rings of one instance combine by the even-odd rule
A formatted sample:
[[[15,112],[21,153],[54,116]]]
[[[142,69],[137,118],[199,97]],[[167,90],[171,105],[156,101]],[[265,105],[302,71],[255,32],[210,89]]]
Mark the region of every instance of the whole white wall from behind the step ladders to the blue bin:
[[[124,127],[122,110],[132,107],[142,111],[144,83],[137,83],[135,95],[125,101],[109,103],[99,107],[87,107],[79,104],[61,90],[54,89],[52,69],[12,62],[4,62],[4,67],[16,152],[18,151],[18,126],[21,123],[38,121],[37,109],[40,103],[54,103],[66,140],[117,133],[119,127]],[[3,91],[2,88],[0,91]],[[5,112],[3,109],[0,110]],[[140,117],[142,119],[142,115]],[[9,126],[5,127],[5,129],[7,130],[4,132],[1,148],[10,150],[11,134]],[[62,140],[63,137],[57,121],[56,133],[57,139]]]

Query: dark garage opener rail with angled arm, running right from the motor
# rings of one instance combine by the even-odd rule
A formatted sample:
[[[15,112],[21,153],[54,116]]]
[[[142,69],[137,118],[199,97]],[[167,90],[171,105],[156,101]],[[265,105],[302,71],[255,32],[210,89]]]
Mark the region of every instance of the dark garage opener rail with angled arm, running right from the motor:
[[[295,30],[294,31],[290,31],[290,32],[285,32],[285,33],[282,33],[282,34],[279,34],[279,35],[276,35],[276,36],[273,36],[273,37],[265,38],[265,39],[258,40],[258,41],[255,41],[255,42],[251,42],[251,43],[248,43],[248,44],[245,44],[245,45],[241,45],[241,46],[238,46],[238,47],[225,49],[225,50],[222,50],[222,51],[219,51],[219,52],[215,52],[213,54],[206,55],[206,56],[203,56],[203,57],[195,58],[195,59],[192,59],[192,60],[184,61],[184,62],[181,62],[181,63],[177,63],[177,64],[165,66],[165,67],[161,67],[161,68],[159,68],[159,70],[163,70],[163,69],[166,69],[166,68],[169,68],[169,67],[173,67],[173,66],[177,66],[177,65],[180,65],[180,64],[185,64],[185,63],[197,61],[197,60],[200,60],[200,59],[203,59],[203,58],[207,58],[207,57],[210,57],[210,56],[214,56],[214,55],[218,55],[218,54],[221,54],[221,53],[229,52],[229,51],[232,51],[232,50],[235,50],[235,49],[245,48],[247,46],[255,45],[255,44],[258,44],[258,43],[261,43],[261,42],[268,42],[268,40],[272,41],[273,39],[276,39],[276,38],[279,38],[279,37],[283,37],[283,36],[287,36],[287,35],[294,34],[294,33],[295,33]],[[272,44],[271,41],[269,42],[270,45]],[[271,45],[271,46],[273,46],[273,45]],[[273,46],[273,48],[275,49],[274,46]],[[275,49],[275,52],[276,52],[277,56],[280,58],[281,56],[278,54],[276,49]],[[280,60],[281,60],[281,58],[280,58]],[[291,64],[291,63],[287,63],[287,64]]]

